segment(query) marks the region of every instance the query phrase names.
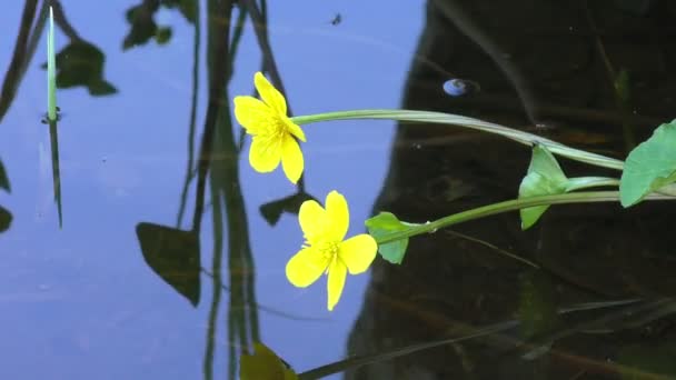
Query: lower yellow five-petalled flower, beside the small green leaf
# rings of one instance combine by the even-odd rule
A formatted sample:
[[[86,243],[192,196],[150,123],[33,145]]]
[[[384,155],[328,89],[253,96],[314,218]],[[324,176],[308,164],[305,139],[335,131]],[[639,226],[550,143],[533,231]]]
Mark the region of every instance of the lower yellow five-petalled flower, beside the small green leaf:
[[[326,210],[314,200],[300,206],[298,221],[305,234],[304,248],[287,263],[287,278],[299,288],[328,274],[328,309],[334,310],[342,293],[347,272],[365,272],[376,258],[378,244],[362,233],[342,241],[349,227],[347,201],[337,191],[326,197]]]

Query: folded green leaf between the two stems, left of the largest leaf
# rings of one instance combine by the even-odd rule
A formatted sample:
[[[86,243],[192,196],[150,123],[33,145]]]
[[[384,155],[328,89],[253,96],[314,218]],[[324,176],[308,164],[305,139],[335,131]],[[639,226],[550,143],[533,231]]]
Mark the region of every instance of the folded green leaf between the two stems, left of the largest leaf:
[[[543,146],[535,146],[530,166],[519,186],[519,199],[563,194],[566,192],[567,182],[568,179],[554,154]],[[526,230],[535,224],[548,208],[549,206],[536,206],[521,209],[521,229]]]

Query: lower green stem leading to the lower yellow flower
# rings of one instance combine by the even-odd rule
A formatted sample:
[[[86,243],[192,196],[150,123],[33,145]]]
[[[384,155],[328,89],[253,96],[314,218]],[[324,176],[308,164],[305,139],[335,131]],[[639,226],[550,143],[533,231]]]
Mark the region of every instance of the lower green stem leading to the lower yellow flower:
[[[663,194],[649,194],[645,198],[646,200],[667,200],[674,199],[674,197]],[[573,192],[567,194],[557,196],[543,196],[531,197],[524,199],[513,199],[504,202],[493,203],[483,206],[476,209],[454,213],[441,219],[437,219],[431,222],[424,224],[414,224],[414,227],[388,233],[376,239],[378,244],[389,243],[396,240],[408,239],[417,234],[433,233],[440,228],[449,227],[453,224],[463,223],[466,221],[480,219],[497,213],[520,210],[534,206],[545,204],[565,204],[565,203],[588,203],[588,202],[613,202],[619,200],[619,191],[589,191],[589,192]]]

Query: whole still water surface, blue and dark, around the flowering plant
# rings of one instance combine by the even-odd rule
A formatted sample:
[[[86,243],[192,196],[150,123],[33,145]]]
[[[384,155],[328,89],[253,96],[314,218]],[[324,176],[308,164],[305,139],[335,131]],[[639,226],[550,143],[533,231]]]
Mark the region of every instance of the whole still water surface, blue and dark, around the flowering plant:
[[[66,117],[36,132],[48,4]],[[670,2],[428,0],[412,57],[414,3],[20,6],[3,6],[18,21],[0,52],[0,378],[235,379],[258,341],[307,379],[336,372],[327,368],[346,379],[676,377],[669,203],[556,207],[526,232],[505,214],[415,238],[402,266],[377,260],[327,314],[322,286],[301,291],[284,274],[302,241],[302,201],[346,192],[361,232],[381,186],[374,211],[426,221],[515,198],[529,152],[401,124],[385,161],[389,129],[308,126],[307,178],[294,188],[252,173],[230,109],[262,70],[291,89],[295,111],[448,111],[623,158],[673,118]],[[449,97],[450,79],[471,91],[455,86]],[[27,153],[39,136],[52,152],[52,171],[49,159],[39,168],[44,188]],[[103,190],[97,176],[108,176]],[[36,198],[47,210],[56,200],[59,223],[44,227]]]

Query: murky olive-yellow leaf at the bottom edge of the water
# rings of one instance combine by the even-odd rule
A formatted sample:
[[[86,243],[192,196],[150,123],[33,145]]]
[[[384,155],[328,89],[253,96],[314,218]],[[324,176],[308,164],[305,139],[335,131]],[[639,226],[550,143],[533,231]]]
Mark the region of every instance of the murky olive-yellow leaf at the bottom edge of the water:
[[[285,366],[264,343],[254,343],[254,354],[239,358],[240,380],[298,380],[294,370]]]

